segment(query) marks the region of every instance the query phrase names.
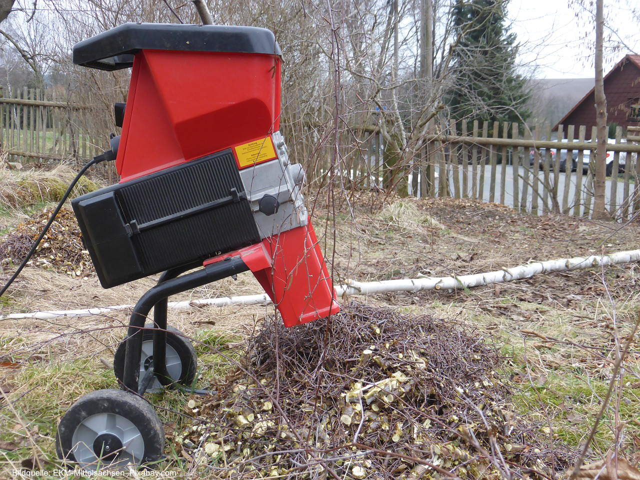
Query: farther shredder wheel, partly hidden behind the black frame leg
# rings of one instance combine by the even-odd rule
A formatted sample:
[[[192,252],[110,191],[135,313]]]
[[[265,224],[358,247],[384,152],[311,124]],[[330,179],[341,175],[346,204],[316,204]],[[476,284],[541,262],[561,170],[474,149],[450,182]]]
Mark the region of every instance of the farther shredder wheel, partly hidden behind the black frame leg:
[[[145,328],[152,329],[153,324],[146,324]],[[198,357],[191,342],[184,333],[176,328],[166,328],[166,369],[170,378],[181,385],[191,385],[198,368]],[[145,330],[142,333],[142,356],[140,358],[140,385],[145,372],[150,365],[154,353],[154,332]],[[127,350],[127,340],[123,340],[116,349],[113,357],[113,372],[116,378],[122,382],[124,377],[124,356]],[[160,392],[163,385],[154,378],[147,388],[147,392]]]

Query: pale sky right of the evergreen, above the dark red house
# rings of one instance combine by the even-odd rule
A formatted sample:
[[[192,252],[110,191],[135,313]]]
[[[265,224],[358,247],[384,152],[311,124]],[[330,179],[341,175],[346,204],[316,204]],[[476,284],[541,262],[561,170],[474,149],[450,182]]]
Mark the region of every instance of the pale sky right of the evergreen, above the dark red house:
[[[520,61],[534,78],[593,78],[593,15],[575,0],[511,0],[509,20]],[[586,0],[589,6],[589,0]],[[640,54],[640,0],[604,0],[605,74],[627,53]],[[595,8],[595,7],[593,7]],[[622,44],[621,40],[625,45]]]

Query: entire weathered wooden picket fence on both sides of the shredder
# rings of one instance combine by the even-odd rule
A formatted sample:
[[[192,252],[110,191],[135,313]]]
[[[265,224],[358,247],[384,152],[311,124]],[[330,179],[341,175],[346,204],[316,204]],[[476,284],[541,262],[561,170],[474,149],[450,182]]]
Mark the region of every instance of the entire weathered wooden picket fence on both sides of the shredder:
[[[2,88],[0,91],[1,152],[14,161],[87,161],[108,147],[104,133],[113,119],[106,109],[69,100],[68,93]],[[596,137],[595,129],[591,138]],[[566,140],[563,140],[566,138]],[[355,188],[396,189],[414,196],[452,196],[509,205],[522,212],[554,212],[589,217],[593,212],[595,141],[585,141],[584,126],[560,125],[557,131],[516,123],[458,122],[426,137],[410,158],[389,162],[380,132],[340,145],[340,163],[313,141],[298,150],[307,159],[311,184],[322,186],[331,175],[348,178]],[[365,140],[365,141],[362,141]],[[607,179],[607,210],[618,220],[640,217],[640,129],[623,136],[619,128],[607,152],[613,174]],[[304,142],[298,142],[298,145]],[[307,150],[305,150],[307,148]],[[334,150],[327,148],[328,150]],[[577,152],[578,168],[561,172],[564,156]],[[591,163],[583,171],[585,157]],[[311,159],[311,160],[309,160]],[[108,176],[116,180],[109,164]]]

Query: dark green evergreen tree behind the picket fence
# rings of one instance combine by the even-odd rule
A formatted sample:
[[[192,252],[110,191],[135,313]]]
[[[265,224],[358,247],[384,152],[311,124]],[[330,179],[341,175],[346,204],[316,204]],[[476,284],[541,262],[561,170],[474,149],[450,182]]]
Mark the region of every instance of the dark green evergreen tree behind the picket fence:
[[[509,0],[458,0],[453,8],[460,42],[453,52],[452,118],[522,122],[529,92],[518,73],[516,35],[506,25]]]

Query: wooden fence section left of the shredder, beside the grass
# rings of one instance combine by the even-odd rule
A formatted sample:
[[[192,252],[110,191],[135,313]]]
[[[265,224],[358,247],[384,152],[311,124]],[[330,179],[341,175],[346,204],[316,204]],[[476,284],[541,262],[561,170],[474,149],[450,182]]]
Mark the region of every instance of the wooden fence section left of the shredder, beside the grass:
[[[0,143],[9,159],[86,161],[106,148],[94,124],[95,108],[70,102],[64,92],[1,88]]]

